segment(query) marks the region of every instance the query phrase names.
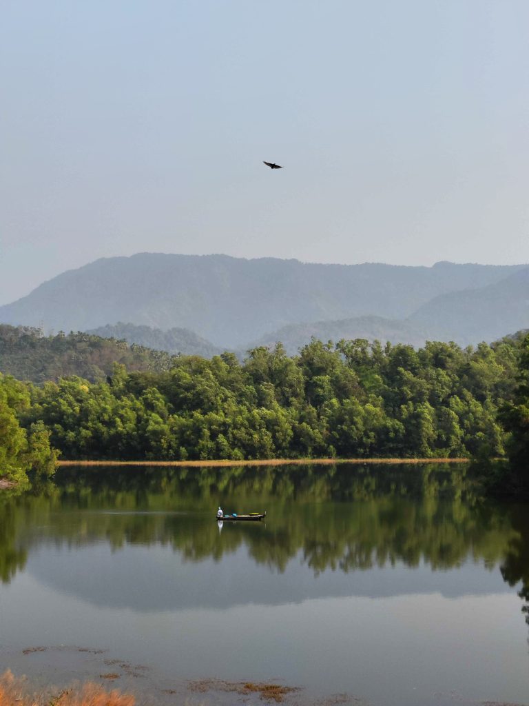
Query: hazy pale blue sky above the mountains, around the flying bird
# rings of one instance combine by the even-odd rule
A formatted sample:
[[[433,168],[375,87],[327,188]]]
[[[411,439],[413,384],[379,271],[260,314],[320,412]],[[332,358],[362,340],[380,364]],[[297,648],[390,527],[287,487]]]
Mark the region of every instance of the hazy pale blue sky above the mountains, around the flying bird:
[[[528,0],[0,0],[0,62],[0,304],[139,251],[529,262]]]

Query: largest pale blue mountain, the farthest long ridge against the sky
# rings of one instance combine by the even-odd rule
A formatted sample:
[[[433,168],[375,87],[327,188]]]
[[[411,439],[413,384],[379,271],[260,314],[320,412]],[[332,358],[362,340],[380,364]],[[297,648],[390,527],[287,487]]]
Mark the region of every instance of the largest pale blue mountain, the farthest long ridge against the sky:
[[[498,282],[519,266],[432,268],[305,264],[225,255],[139,253],[69,270],[0,307],[0,322],[87,330],[129,321],[187,328],[221,347],[241,347],[300,321],[406,318],[439,294]],[[520,328],[517,326],[515,328]]]

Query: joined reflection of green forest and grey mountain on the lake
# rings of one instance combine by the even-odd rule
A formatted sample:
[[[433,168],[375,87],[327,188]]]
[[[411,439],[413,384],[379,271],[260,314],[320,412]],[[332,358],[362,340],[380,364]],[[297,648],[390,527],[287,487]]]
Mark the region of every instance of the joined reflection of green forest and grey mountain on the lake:
[[[267,522],[222,530],[211,519],[219,503],[226,511],[267,510]],[[137,552],[147,547],[140,560]],[[172,550],[175,561],[165,554],[162,561],[156,547]],[[67,564],[58,558],[65,549],[76,550]],[[485,502],[463,465],[61,469],[53,482],[0,496],[1,580],[10,582],[28,556],[32,572],[59,590],[103,604],[126,594],[132,607],[142,608],[214,604],[214,592],[201,595],[200,582],[209,583],[207,560],[221,558],[229,560],[224,580],[238,581],[237,590],[223,595],[236,602],[288,602],[315,592],[413,592],[412,573],[396,570],[386,586],[376,570],[422,565],[437,571],[430,585],[422,575],[422,590],[492,590],[482,572],[475,585],[468,572],[464,580],[440,573],[469,560],[494,569],[494,581],[501,566],[506,584],[522,581],[520,596],[529,598],[526,508]],[[123,590],[138,561],[152,605],[145,604],[142,580],[135,579],[138,590]],[[90,575],[101,574],[102,562],[111,567],[113,585],[95,590]],[[187,574],[180,568],[176,575],[182,563],[204,566]],[[288,576],[278,581],[287,568]],[[367,569],[375,572],[369,585],[361,575],[347,578]],[[303,588],[307,575],[320,581],[307,580]]]

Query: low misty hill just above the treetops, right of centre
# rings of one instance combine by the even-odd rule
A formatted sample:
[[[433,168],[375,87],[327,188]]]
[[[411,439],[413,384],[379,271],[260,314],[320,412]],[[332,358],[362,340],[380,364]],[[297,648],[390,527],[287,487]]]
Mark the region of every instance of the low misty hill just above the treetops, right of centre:
[[[260,337],[253,346],[248,347],[272,346],[281,341],[288,354],[294,355],[298,349],[310,342],[312,337],[324,342],[332,340],[334,343],[341,338],[367,338],[370,341],[379,340],[383,345],[389,341],[420,347],[430,336],[425,329],[408,321],[394,321],[380,316],[358,316],[339,321],[315,321],[283,326]]]

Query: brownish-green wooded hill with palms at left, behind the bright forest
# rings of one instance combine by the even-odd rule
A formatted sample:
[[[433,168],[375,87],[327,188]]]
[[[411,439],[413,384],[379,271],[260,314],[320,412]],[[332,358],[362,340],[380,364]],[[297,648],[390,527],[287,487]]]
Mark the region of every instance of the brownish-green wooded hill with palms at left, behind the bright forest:
[[[0,373],[34,383],[69,375],[104,380],[114,361],[128,370],[162,372],[173,359],[166,352],[87,333],[43,336],[37,328],[0,325]]]

